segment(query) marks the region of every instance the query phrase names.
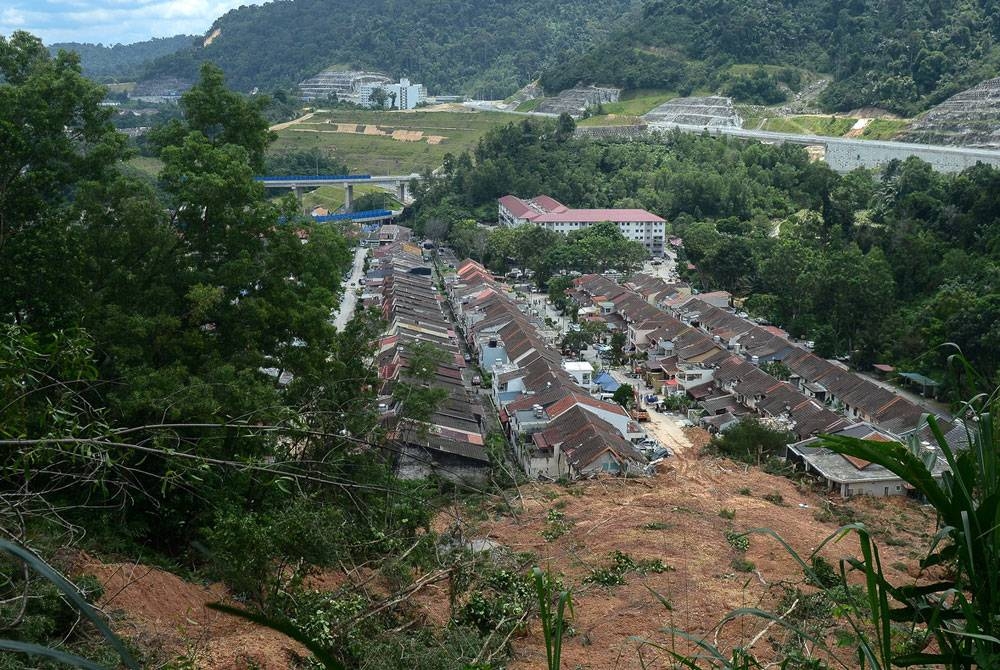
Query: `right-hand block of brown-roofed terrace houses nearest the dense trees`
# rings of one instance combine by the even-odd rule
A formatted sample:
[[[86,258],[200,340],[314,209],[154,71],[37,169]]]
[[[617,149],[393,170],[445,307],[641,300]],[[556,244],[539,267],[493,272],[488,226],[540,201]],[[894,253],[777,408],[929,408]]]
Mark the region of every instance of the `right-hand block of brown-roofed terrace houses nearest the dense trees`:
[[[815,356],[789,341],[779,328],[738,317],[720,306],[728,303],[726,294],[684,296],[680,287],[661,286],[644,276],[631,285],[635,288],[587,275],[576,280],[570,294],[581,312],[596,307],[597,318],[610,330],[627,333],[629,347],[645,354],[645,362],[633,372],[643,375],[660,393],[685,394],[693,399],[697,403],[693,418],[700,415],[702,425],[710,431],[725,430],[741,416],[753,414],[789,430],[800,440],[863,424],[892,441],[913,436],[918,444],[933,450],[920,406]],[[790,379],[776,379],[759,367],[769,361],[785,364],[791,371]],[[949,443],[961,448],[964,427],[949,417],[938,420]],[[824,469],[818,461],[810,462],[814,457],[829,457],[824,450],[803,454],[800,461],[811,472],[840,477],[827,478],[827,482],[844,495],[894,495],[903,490],[901,482],[900,488],[895,483],[862,486],[863,481],[875,481],[871,470],[866,470],[871,464],[852,464],[848,459],[843,468]],[[851,468],[857,470],[855,479],[844,476]]]

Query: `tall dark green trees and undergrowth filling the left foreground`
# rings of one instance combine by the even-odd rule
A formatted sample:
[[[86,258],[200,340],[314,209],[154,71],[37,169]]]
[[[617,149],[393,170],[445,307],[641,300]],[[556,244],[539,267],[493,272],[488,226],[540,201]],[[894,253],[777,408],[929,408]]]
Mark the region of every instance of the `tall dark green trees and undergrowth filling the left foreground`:
[[[222,580],[348,667],[503,658],[509,607],[527,616],[523,561],[484,572],[461,544],[441,549],[437,485],[392,476],[370,364],[382,324],[330,324],[350,244],[252,178],[267,101],[202,68],[182,118],[151,134],[151,185],[126,169],[126,138],[75,55],[0,38],[0,82],[0,667],[64,667],[14,651],[118,667],[15,545],[90,600],[99,584],[70,573],[79,550]],[[304,585],[362,564],[388,595]],[[447,630],[382,601],[415,574],[457,580]],[[133,652],[142,667],[190,667]]]

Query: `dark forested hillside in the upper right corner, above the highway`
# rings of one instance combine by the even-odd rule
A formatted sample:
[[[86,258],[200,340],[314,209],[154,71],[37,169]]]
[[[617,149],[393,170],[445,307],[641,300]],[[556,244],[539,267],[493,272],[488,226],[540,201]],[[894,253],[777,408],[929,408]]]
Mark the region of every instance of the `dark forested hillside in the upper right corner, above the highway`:
[[[747,76],[734,65],[792,66],[832,78],[828,110],[911,115],[997,76],[997,43],[1000,0],[654,0],[542,84],[726,90]]]

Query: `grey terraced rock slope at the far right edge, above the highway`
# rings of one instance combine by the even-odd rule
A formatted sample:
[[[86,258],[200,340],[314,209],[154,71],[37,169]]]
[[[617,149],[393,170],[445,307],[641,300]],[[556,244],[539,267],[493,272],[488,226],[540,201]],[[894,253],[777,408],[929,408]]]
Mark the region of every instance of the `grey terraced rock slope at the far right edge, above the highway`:
[[[948,98],[914,122],[902,139],[1000,149],[1000,77]]]

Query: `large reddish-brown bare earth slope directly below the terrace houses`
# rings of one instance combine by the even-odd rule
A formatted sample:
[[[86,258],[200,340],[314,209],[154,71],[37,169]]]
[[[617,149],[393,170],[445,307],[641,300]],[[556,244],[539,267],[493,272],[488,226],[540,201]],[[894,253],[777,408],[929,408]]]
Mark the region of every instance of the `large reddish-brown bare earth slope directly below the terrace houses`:
[[[749,495],[740,493],[746,489]],[[574,588],[574,634],[563,648],[567,668],[640,668],[643,661],[658,667],[655,659],[662,663],[665,654],[636,638],[670,647],[661,632],[665,626],[707,635],[720,646],[746,644],[763,628],[762,622],[746,620],[743,628],[729,624],[717,636],[713,627],[738,607],[773,610],[775,584],[799,583],[802,575],[787,552],[763,535],[752,536],[744,555],[755,570],[734,570],[731,561],[740,554],[725,533],[769,527],[808,556],[840,525],[832,519],[817,520],[830,517],[824,498],[800,491],[785,478],[723,459],[695,459],[690,453],[678,454],[673,471],[653,480],[602,479],[569,488],[531,485],[522,488],[522,495],[524,512],[517,520],[488,522],[481,532],[515,551],[535,552],[542,566],[561,573],[564,583]],[[912,581],[901,568],[916,574],[916,559],[933,528],[932,515],[906,500],[857,500],[850,505],[873,528],[885,529],[882,540],[896,545],[880,543],[889,579]],[[546,514],[556,508],[573,525],[565,535],[546,542],[541,535]],[[734,512],[732,520],[719,515],[724,509]],[[616,550],[636,561],[660,559],[673,571],[632,573],[626,585],[612,588],[584,584],[590,570],[609,565],[609,554]],[[823,554],[836,564],[841,556],[856,552],[857,542],[848,536]],[[673,611],[650,589],[666,597]],[[514,641],[517,660],[512,667],[545,667],[539,628],[535,624],[527,636]],[[768,637],[754,647],[762,658],[767,658]],[[677,646],[684,648],[680,642]]]

